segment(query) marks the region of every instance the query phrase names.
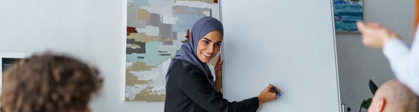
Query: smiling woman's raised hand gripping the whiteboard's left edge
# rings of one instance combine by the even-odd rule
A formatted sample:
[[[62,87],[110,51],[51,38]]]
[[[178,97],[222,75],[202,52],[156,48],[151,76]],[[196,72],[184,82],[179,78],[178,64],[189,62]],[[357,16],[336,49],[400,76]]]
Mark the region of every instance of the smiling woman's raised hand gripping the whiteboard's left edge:
[[[214,66],[214,72],[215,72],[214,83],[215,83],[215,91],[217,93],[219,93],[222,88],[222,62],[223,60],[221,60],[221,53],[220,53],[218,54],[218,58]]]

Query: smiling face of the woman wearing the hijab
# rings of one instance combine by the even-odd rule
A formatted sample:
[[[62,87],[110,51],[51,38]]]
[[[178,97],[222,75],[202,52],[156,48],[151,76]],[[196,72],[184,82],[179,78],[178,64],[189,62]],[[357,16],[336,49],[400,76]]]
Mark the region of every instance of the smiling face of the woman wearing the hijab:
[[[208,63],[220,51],[222,36],[218,30],[211,31],[202,37],[197,45],[199,60]]]

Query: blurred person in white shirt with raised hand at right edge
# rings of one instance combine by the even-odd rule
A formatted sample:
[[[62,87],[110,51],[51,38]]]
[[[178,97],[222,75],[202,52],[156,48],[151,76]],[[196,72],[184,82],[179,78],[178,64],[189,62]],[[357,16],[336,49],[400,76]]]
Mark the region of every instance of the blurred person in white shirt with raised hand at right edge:
[[[419,0],[416,0],[415,38],[419,37]],[[412,48],[408,48],[393,31],[382,27],[379,23],[357,23],[362,34],[364,45],[382,49],[390,62],[395,77],[414,93],[419,95],[419,40],[414,40]]]

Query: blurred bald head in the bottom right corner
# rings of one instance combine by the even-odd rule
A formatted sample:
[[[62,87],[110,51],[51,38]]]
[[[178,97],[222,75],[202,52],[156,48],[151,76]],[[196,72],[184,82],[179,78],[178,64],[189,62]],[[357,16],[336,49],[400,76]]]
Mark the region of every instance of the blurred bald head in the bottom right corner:
[[[418,96],[393,79],[378,88],[368,112],[418,112],[418,105]]]

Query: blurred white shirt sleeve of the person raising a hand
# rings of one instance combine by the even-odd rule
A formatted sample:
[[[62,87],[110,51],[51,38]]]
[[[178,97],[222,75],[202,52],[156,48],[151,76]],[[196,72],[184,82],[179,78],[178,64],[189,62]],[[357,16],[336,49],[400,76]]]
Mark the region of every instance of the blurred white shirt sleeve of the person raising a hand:
[[[389,40],[383,53],[390,62],[395,77],[419,95],[419,28],[410,49],[400,39]]]

